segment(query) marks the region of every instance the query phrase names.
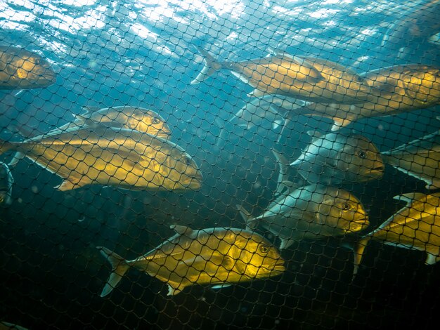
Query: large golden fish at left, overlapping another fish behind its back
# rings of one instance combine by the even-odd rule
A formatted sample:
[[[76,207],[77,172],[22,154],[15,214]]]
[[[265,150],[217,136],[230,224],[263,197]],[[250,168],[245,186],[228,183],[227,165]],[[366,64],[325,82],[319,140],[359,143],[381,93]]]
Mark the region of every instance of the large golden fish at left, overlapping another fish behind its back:
[[[63,178],[59,190],[112,185],[128,190],[200,188],[202,173],[179,145],[135,130],[101,126],[22,142],[0,141]]]

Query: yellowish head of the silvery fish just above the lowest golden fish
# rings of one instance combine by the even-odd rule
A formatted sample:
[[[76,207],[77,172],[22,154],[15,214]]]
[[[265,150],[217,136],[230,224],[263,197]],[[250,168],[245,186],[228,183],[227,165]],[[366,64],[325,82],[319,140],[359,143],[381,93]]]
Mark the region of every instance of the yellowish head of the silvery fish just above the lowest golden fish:
[[[359,232],[370,224],[363,204],[347,190],[328,187],[316,214],[321,235],[341,236]]]

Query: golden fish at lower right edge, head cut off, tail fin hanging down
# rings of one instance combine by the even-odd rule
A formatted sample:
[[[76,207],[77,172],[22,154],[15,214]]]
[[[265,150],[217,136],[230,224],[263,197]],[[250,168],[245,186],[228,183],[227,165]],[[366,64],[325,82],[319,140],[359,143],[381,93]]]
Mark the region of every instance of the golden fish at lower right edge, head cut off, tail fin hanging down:
[[[433,265],[440,260],[440,192],[422,194],[410,192],[394,197],[406,206],[388,218],[380,227],[365,235],[357,244],[354,254],[354,275],[370,239],[403,249],[425,251],[425,263]]]

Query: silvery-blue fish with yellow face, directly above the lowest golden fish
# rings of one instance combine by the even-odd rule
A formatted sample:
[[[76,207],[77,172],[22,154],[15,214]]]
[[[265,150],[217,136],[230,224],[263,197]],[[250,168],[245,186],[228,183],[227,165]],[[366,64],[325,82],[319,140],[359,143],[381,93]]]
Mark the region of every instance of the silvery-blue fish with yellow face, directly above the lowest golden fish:
[[[302,239],[359,232],[369,225],[363,205],[353,194],[325,185],[306,185],[282,194],[255,218],[241,206],[237,207],[247,228],[255,229],[261,224],[280,239],[280,249]]]

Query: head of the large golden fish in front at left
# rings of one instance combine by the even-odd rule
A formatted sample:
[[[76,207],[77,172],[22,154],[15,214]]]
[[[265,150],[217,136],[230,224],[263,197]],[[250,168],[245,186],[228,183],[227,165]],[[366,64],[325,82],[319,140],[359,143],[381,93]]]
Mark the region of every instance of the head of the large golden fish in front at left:
[[[169,190],[200,189],[203,180],[202,172],[193,157],[184,152],[181,147],[174,145],[168,152],[160,150],[157,156],[158,172],[164,178],[164,188]]]

